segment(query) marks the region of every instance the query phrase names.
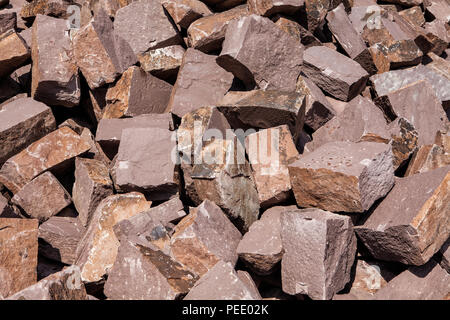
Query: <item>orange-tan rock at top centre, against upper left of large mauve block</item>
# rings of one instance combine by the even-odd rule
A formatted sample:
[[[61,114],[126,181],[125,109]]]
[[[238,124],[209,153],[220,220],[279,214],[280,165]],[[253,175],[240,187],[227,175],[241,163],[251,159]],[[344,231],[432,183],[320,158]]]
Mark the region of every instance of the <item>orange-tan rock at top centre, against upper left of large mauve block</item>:
[[[220,50],[229,23],[248,14],[243,5],[198,19],[187,30],[189,46],[203,52]]]

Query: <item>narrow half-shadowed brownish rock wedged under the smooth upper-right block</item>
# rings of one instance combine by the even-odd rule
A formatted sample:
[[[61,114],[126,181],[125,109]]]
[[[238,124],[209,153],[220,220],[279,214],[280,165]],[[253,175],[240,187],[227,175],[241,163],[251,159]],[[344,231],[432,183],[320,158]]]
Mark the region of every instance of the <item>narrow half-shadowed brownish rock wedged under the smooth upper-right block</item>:
[[[305,124],[314,131],[335,116],[336,112],[322,90],[310,79],[298,77],[296,91],[306,96]]]

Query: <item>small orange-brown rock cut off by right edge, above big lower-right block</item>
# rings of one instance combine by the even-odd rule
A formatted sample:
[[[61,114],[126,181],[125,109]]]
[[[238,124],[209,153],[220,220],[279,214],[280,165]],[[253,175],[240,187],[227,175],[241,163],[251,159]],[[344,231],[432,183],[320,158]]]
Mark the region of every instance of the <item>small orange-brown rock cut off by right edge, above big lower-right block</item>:
[[[405,177],[450,165],[450,135],[438,132],[434,144],[422,145],[414,153]]]

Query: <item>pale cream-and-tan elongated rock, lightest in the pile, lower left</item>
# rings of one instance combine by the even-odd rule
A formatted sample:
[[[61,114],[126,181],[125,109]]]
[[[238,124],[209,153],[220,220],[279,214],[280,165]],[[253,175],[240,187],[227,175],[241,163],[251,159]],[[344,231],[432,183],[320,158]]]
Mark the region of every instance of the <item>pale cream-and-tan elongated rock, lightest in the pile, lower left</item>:
[[[137,192],[111,195],[100,202],[77,248],[75,264],[81,269],[83,282],[101,281],[116,261],[119,241],[113,226],[150,205]]]

